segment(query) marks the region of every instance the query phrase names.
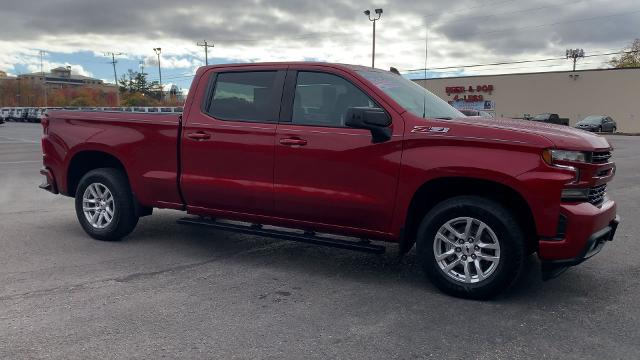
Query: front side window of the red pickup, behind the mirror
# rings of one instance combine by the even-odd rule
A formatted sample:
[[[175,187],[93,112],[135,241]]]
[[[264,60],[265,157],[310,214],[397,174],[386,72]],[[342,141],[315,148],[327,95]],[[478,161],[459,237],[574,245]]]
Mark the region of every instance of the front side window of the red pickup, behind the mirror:
[[[292,123],[344,127],[350,107],[378,107],[347,80],[331,74],[298,72]]]

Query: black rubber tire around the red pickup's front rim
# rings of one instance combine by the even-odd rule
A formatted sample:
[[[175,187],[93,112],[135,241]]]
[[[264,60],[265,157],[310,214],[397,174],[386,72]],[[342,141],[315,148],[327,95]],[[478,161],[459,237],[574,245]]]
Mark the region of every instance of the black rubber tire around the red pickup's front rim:
[[[463,241],[465,241],[465,243],[457,245],[455,249],[451,247],[449,250],[455,251],[454,254],[442,260],[445,262],[445,265],[447,265],[447,261],[451,261],[451,263],[461,261],[460,266],[462,266],[462,269],[456,265],[456,267],[445,273],[436,261],[436,250],[434,249],[434,247],[444,244],[444,241],[436,239],[436,235],[441,227],[449,221],[458,218],[473,218],[476,221],[479,220],[483,222],[490,228],[496,237],[496,242],[499,244],[499,260],[497,261],[497,265],[487,266],[486,261],[480,259],[481,256],[486,255],[486,252],[493,252],[495,256],[496,250],[480,249],[478,252],[474,252],[478,250],[477,248],[479,246],[484,246],[485,244],[478,244],[479,246],[475,246],[474,249],[472,247],[473,244],[467,244],[467,240],[473,239],[473,237],[470,237],[464,239]],[[479,222],[472,223],[479,225]],[[453,233],[450,233],[448,236],[453,237]],[[485,239],[486,236],[492,236],[492,234],[485,230],[480,236]],[[457,241],[459,240],[460,239]],[[436,243],[437,241],[440,241],[440,243]],[[475,239],[473,239],[473,241],[475,241]],[[459,196],[441,202],[425,215],[418,229],[416,251],[427,277],[440,290],[462,298],[488,299],[508,289],[520,276],[526,257],[525,244],[525,237],[521,226],[504,206],[493,200],[479,196]],[[447,243],[446,246],[452,245]],[[482,253],[483,251],[485,253]],[[463,256],[463,253],[467,252],[468,256]],[[482,255],[475,255],[481,253]],[[481,269],[483,266],[486,266],[487,270],[489,268],[493,269],[491,272],[487,271],[486,278],[480,280],[478,271],[475,270],[476,260],[470,260],[472,256],[474,259],[479,259]],[[453,276],[457,275],[451,274],[452,272],[464,271],[463,264],[464,261],[467,260],[462,260],[462,257],[466,257],[469,259],[468,261],[474,261],[469,263],[470,270],[468,270],[468,273],[469,279],[471,279],[473,278],[472,272],[475,272],[476,279],[473,279],[473,281],[477,282],[463,282],[461,280],[463,279],[462,277],[459,279],[453,278]],[[472,266],[474,267],[473,270],[471,270]],[[466,277],[467,272],[465,272],[464,275]]]

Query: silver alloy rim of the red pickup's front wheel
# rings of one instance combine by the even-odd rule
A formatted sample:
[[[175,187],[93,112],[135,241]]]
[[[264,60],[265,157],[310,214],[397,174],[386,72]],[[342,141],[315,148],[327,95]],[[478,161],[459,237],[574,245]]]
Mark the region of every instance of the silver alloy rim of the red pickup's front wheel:
[[[440,269],[453,280],[478,283],[491,276],[500,262],[500,243],[484,222],[459,217],[436,233],[433,254]]]

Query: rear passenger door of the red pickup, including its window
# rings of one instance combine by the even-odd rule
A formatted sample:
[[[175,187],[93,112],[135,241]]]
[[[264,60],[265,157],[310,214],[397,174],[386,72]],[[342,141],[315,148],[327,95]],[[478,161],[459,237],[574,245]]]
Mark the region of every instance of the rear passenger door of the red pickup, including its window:
[[[182,131],[181,186],[189,209],[271,214],[285,75],[265,66],[204,74]]]

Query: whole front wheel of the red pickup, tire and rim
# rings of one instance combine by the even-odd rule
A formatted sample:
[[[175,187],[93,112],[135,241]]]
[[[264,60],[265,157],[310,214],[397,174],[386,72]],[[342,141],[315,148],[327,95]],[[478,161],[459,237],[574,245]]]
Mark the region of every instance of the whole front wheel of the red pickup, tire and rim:
[[[525,238],[513,215],[499,203],[459,196],[436,205],[418,230],[416,250],[428,278],[463,298],[491,298],[522,272]]]

